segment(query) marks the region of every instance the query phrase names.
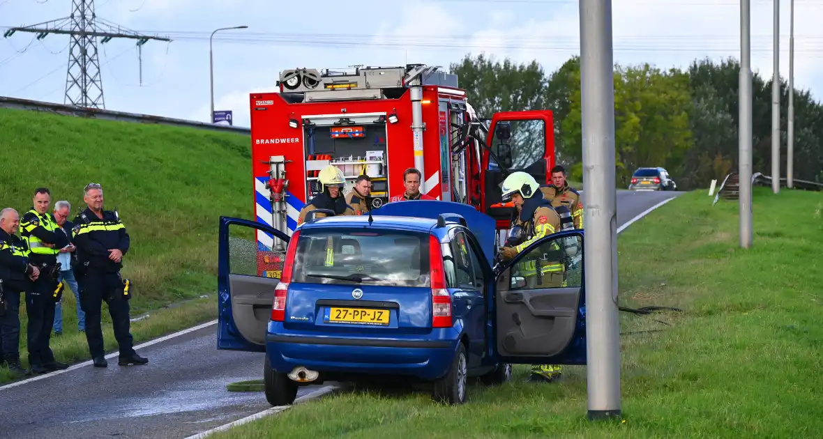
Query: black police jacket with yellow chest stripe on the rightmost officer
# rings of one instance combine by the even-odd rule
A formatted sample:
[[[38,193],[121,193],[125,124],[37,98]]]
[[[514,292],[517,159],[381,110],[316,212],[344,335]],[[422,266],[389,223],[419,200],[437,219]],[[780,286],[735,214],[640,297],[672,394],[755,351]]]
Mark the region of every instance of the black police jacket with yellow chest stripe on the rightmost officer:
[[[123,261],[109,259],[109,250],[118,249],[123,256],[128,252],[131,238],[119,215],[112,210],[103,210],[100,218],[86,208],[74,218],[74,245],[77,246],[77,263],[106,273],[117,273],[123,268]],[[85,269],[80,270],[81,273]]]

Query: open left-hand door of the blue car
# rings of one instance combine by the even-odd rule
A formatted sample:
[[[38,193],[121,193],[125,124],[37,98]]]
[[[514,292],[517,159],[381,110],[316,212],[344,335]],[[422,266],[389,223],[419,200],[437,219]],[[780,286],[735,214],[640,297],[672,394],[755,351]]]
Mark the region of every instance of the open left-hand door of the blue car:
[[[272,252],[277,241],[286,248],[289,237],[248,219],[220,217],[217,349],[266,350],[274,289],[286,258],[285,252]]]

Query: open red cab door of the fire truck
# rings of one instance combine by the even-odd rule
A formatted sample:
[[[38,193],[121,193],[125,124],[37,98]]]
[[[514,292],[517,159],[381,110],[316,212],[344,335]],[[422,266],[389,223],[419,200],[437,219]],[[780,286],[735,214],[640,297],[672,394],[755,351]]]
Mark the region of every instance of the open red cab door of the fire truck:
[[[489,125],[480,169],[482,211],[497,221],[497,229],[508,229],[511,203],[501,203],[503,180],[509,173],[529,173],[537,183],[548,184],[555,166],[555,127],[551,111],[534,110],[495,113]],[[497,163],[495,157],[500,159]]]

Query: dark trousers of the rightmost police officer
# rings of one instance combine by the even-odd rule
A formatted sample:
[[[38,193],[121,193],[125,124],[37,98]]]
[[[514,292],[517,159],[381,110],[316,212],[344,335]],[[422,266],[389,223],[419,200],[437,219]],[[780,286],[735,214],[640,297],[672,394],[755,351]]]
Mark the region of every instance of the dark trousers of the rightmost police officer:
[[[89,268],[79,280],[80,306],[86,312],[86,340],[91,358],[105,355],[103,330],[100,327],[103,302],[109,305],[109,315],[114,326],[114,338],[119,344],[120,356],[134,354],[129,329],[128,300],[123,298],[123,280],[118,273],[108,273]]]

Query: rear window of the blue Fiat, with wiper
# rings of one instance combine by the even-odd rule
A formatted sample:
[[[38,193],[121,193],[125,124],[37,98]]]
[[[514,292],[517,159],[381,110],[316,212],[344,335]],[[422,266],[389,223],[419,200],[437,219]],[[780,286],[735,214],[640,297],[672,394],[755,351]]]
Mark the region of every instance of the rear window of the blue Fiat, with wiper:
[[[429,234],[386,229],[304,229],[291,281],[429,287]]]

